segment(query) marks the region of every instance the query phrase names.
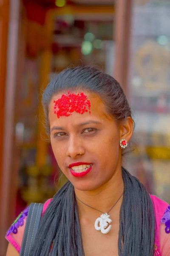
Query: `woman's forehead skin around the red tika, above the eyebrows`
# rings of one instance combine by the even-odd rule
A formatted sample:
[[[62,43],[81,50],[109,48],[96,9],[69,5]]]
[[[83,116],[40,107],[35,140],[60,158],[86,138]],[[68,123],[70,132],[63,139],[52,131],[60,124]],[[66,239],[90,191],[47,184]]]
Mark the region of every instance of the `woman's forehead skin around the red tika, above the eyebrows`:
[[[94,93],[89,93],[89,92],[83,92],[83,91],[76,91],[74,92],[74,95],[84,95],[86,97],[86,102],[89,102],[87,104],[87,110],[82,111],[80,113],[77,113],[76,111],[72,112],[71,115],[69,116],[58,116],[57,117],[57,104],[56,102],[60,102],[62,100],[62,109],[67,109],[68,107],[68,101],[70,101],[68,96],[68,93],[60,93],[57,94],[56,96],[53,96],[51,99],[50,105],[49,105],[49,121],[50,121],[50,126],[60,124],[60,125],[67,125],[68,122],[69,124],[76,124],[79,122],[86,122],[89,119],[95,119],[95,120],[100,120],[104,121],[107,119],[107,113],[105,109],[105,105],[103,104],[102,100],[100,97]],[[83,96],[83,97],[84,97]],[[84,99],[85,99],[84,97]],[[80,97],[80,101],[82,98]],[[78,102],[79,103],[79,102]],[[85,108],[85,107],[84,107]]]

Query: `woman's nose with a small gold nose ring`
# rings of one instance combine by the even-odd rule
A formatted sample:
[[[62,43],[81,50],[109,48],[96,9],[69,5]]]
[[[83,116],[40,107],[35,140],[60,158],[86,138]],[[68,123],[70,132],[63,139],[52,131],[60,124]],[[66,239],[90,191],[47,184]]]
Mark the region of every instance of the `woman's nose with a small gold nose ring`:
[[[85,154],[85,150],[82,147],[81,140],[77,137],[70,137],[68,141],[68,148],[67,148],[67,157],[71,157],[72,159],[82,156]]]

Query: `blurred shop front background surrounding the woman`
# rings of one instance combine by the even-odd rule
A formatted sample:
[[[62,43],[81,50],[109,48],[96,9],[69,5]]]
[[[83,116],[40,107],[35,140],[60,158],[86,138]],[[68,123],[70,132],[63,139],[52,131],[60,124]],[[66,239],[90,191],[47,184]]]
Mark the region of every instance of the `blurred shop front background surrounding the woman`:
[[[0,256],[14,218],[66,181],[40,100],[71,65],[120,82],[136,122],[123,165],[170,203],[170,1],[0,0]]]

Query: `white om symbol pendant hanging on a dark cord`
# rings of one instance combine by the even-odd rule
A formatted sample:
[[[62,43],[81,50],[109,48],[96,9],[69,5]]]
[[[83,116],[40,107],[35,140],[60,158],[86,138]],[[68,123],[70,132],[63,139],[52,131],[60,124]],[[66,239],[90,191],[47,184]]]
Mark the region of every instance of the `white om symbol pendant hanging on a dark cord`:
[[[103,234],[107,234],[111,230],[111,225],[108,226],[111,222],[112,220],[110,219],[110,215],[108,215],[108,213],[104,213],[96,219],[94,227]]]

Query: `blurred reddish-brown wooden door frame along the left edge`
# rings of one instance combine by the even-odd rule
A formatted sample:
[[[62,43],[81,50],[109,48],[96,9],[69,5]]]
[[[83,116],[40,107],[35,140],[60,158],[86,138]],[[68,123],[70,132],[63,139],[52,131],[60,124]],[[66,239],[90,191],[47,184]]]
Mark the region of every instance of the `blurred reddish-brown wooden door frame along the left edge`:
[[[1,0],[3,5],[3,58],[0,58],[0,65],[3,65],[3,127],[0,143],[0,248],[2,256],[6,253],[7,241],[6,231],[14,217],[14,204],[16,199],[17,173],[12,163],[13,141],[14,141],[14,98],[17,71],[17,49],[18,49],[18,28],[20,17],[20,0]],[[8,3],[8,5],[7,5]],[[8,19],[7,19],[8,15]],[[1,67],[1,66],[0,66]],[[1,78],[1,76],[0,76]],[[2,83],[1,83],[2,84]],[[0,104],[2,104],[0,102]],[[2,119],[1,119],[2,120]],[[2,153],[2,154],[1,154]]]

